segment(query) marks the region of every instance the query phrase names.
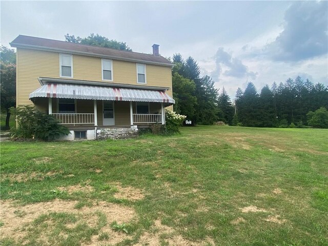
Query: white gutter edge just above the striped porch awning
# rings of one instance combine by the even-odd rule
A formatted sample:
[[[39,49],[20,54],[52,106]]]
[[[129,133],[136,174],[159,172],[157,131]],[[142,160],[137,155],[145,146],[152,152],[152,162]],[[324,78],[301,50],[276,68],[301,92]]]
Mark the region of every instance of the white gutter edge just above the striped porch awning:
[[[144,90],[159,90],[168,91],[169,87],[157,87],[157,86],[135,86],[128,84],[117,84],[117,83],[107,83],[99,81],[89,81],[89,80],[77,80],[77,79],[63,79],[63,78],[37,78],[39,83],[44,86],[48,83],[63,83],[63,84],[79,84],[79,85],[91,85],[91,86],[107,86],[107,87],[121,87],[121,88],[133,88],[133,89],[144,89]]]

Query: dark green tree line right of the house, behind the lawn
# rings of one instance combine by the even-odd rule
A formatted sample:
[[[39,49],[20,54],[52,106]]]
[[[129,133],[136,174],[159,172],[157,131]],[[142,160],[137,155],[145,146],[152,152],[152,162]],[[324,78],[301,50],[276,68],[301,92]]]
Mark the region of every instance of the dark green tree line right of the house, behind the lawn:
[[[311,125],[311,112],[321,109],[328,127],[328,88],[297,76],[271,88],[265,85],[260,93],[252,82],[243,91],[238,88],[232,101],[224,89],[214,87],[213,79],[200,77],[197,62],[174,54],[172,61],[172,87],[176,104],[173,109],[193,124],[213,125],[223,121],[228,125],[247,127],[302,127]],[[326,112],[326,113],[325,113]]]

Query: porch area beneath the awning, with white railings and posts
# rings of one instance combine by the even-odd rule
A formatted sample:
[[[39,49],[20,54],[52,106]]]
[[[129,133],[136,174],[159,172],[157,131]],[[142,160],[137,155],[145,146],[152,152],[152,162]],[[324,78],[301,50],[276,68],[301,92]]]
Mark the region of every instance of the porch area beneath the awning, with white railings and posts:
[[[68,127],[165,124],[163,103],[48,98],[48,113]]]

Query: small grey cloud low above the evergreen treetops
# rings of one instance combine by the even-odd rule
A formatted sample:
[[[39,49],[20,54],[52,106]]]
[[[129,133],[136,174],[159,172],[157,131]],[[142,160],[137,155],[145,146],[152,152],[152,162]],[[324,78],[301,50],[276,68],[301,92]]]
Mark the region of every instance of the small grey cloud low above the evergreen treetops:
[[[250,77],[251,79],[255,79],[257,76],[257,73],[250,72],[248,67],[240,59],[232,57],[232,54],[224,51],[222,47],[217,50],[214,57],[216,66],[211,74],[214,78],[225,75],[235,78]],[[222,72],[223,69],[224,72]]]

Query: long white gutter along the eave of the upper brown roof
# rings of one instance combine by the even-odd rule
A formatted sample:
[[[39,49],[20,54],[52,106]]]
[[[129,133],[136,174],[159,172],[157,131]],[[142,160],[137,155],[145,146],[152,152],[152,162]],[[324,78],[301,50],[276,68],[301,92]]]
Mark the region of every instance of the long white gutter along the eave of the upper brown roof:
[[[86,56],[93,56],[93,57],[101,57],[101,58],[110,58],[114,60],[126,60],[126,61],[133,61],[136,63],[145,63],[145,64],[154,64],[154,65],[161,65],[161,66],[167,66],[167,67],[173,67],[173,64],[168,63],[158,63],[156,61],[148,61],[148,60],[139,60],[139,59],[133,59],[133,58],[122,58],[119,56],[112,56],[112,55],[102,55],[98,53],[90,53],[90,52],[84,52],[84,51],[73,51],[73,50],[67,50],[67,49],[59,49],[59,48],[52,48],[52,47],[44,47],[44,46],[37,46],[37,45],[25,45],[25,44],[17,44],[17,43],[9,43],[11,47],[15,48],[29,48],[34,50],[52,50],[52,51],[59,51],[69,54],[82,54]]]

